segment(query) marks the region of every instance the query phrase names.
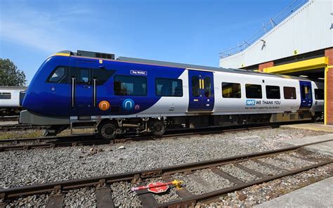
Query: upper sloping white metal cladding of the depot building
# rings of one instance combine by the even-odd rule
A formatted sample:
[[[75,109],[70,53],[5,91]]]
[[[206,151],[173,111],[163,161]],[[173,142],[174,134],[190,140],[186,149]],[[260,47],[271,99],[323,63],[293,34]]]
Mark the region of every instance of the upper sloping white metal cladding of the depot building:
[[[246,67],[333,46],[333,1],[311,0],[241,53],[220,59],[220,67]]]

